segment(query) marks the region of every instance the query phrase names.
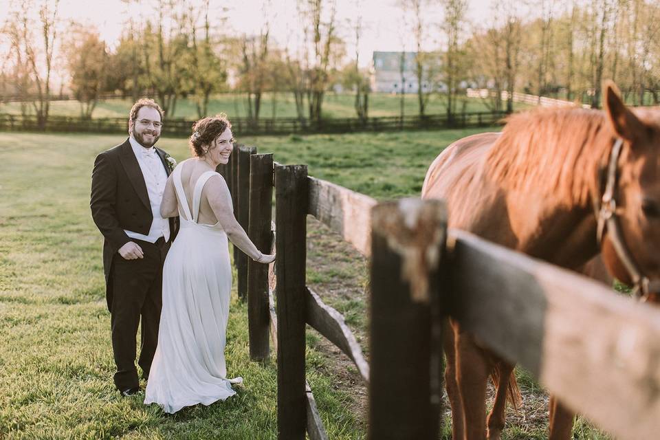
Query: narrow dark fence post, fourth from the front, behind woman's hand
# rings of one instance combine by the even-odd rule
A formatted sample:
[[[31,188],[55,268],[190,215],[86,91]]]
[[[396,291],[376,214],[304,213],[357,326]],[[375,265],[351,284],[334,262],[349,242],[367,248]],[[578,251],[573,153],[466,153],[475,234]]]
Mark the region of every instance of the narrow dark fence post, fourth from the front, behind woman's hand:
[[[238,178],[238,214],[239,221],[245,232],[248,232],[250,222],[250,156],[256,153],[256,146],[241,146],[239,148],[239,178]],[[238,276],[239,298],[248,298],[248,256],[239,251],[236,258],[236,274]]]

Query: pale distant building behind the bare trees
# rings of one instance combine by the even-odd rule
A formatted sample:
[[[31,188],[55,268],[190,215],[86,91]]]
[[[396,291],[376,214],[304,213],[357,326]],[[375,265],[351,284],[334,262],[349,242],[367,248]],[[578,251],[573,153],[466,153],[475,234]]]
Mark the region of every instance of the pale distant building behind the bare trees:
[[[373,52],[371,90],[399,94],[405,87],[406,94],[416,94],[419,83],[415,73],[415,56],[417,52]],[[401,63],[404,68],[403,83]],[[424,81],[421,87],[428,90],[430,85]]]

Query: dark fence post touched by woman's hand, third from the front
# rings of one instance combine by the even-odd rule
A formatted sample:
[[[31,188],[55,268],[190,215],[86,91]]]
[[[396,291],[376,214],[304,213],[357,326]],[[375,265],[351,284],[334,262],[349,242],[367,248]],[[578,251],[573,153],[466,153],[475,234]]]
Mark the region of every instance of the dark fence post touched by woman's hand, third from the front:
[[[272,234],[273,155],[250,157],[250,221],[248,236],[265,254],[270,252]],[[250,359],[266,360],[270,355],[270,309],[268,265],[248,260],[248,331]]]

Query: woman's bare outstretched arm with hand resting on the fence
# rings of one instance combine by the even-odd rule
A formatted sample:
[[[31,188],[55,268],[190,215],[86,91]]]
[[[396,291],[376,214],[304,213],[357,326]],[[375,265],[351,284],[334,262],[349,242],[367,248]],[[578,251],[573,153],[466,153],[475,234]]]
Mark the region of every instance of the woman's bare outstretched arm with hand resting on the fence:
[[[232,243],[254,261],[271,263],[275,259],[274,255],[264,255],[259,252],[254,243],[248,238],[248,234],[245,234],[243,227],[236,221],[232,196],[229,193],[225,179],[221,176],[211,177],[206,184],[206,190],[208,203]]]

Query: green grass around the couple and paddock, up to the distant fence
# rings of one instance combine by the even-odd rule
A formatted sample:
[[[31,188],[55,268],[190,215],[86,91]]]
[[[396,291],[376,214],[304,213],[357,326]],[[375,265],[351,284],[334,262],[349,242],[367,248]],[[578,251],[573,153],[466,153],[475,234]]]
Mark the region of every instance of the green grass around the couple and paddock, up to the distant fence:
[[[241,138],[287,164],[377,199],[418,195],[441,149],[470,131]],[[0,439],[274,439],[276,369],[250,362],[247,310],[232,293],[228,374],[238,395],[177,415],[113,389],[102,239],[89,213],[94,157],[117,135],[0,133]],[[177,160],[185,140],[159,146]],[[366,261],[309,222],[307,280],[366,348]],[[234,283],[235,285],[235,283]],[[331,439],[366,437],[364,387],[313,331],[307,378]],[[343,362],[343,363],[342,363]],[[524,372],[522,412],[506,439],[547,437],[547,397]],[[142,397],[143,398],[143,397]],[[448,438],[449,428],[445,430]],[[580,421],[575,438],[606,438]]]

